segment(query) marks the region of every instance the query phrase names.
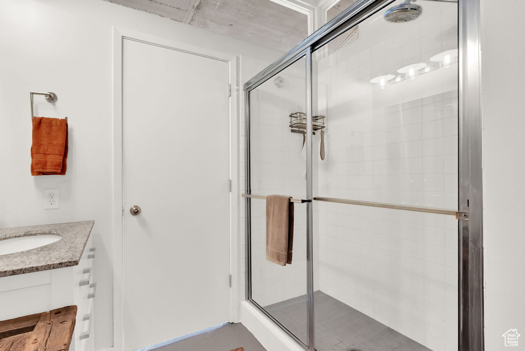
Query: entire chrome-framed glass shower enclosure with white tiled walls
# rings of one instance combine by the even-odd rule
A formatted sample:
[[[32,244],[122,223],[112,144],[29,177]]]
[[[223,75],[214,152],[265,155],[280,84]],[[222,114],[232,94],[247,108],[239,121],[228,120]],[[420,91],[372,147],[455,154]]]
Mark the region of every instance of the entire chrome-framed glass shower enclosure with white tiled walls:
[[[358,0],[244,85],[246,298],[309,351],[483,349],[479,8],[417,4]]]

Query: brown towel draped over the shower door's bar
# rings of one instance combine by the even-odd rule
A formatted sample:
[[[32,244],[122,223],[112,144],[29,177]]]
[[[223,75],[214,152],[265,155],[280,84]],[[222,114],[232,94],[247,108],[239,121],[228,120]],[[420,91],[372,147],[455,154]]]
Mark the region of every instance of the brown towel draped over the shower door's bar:
[[[285,266],[292,263],[293,202],[285,195],[266,197],[266,259]]]

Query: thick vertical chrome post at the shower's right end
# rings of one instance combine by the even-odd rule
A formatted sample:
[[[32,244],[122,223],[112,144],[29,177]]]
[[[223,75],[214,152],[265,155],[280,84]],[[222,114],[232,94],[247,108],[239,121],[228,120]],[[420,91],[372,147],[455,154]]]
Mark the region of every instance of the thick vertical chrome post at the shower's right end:
[[[483,351],[483,199],[480,105],[480,1],[459,0],[459,184],[458,223],[460,351]]]

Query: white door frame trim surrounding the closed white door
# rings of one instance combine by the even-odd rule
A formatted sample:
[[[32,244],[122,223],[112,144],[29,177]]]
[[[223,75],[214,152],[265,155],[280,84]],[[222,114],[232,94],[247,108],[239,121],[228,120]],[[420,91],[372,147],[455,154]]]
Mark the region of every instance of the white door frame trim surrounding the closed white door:
[[[230,288],[230,321],[238,320],[237,302],[239,301],[239,267],[240,238],[238,210],[240,206],[239,184],[239,82],[237,80],[240,69],[240,57],[219,53],[211,49],[193,46],[174,40],[153,36],[131,29],[113,26],[113,349],[121,351],[123,346],[123,171],[122,171],[122,42],[124,39],[135,40],[146,44],[165,47],[189,54],[204,56],[228,64],[229,84],[232,94],[229,101],[229,178],[232,180],[229,208],[229,247],[230,247],[230,274],[232,288]],[[227,94],[227,86],[225,87]],[[226,95],[225,95],[226,96]],[[206,199],[202,199],[207,201]],[[176,335],[174,335],[176,336]],[[163,342],[166,340],[159,340]]]

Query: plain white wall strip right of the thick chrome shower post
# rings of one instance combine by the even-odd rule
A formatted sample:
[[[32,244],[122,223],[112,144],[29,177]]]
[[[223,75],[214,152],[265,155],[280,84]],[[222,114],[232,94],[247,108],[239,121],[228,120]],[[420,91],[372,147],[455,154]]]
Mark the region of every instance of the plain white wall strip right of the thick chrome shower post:
[[[507,8],[508,11],[503,11]],[[525,3],[481,0],[485,349],[525,349]]]

